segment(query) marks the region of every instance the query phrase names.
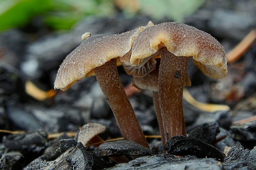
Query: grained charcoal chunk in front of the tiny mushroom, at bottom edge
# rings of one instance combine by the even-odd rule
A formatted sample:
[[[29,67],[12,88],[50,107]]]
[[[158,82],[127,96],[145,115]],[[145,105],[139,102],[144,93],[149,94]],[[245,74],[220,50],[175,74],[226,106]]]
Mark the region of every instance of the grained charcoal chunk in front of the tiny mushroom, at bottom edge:
[[[94,154],[85,150],[79,142],[76,147],[71,147],[55,161],[52,161],[45,170],[100,170],[109,165]]]

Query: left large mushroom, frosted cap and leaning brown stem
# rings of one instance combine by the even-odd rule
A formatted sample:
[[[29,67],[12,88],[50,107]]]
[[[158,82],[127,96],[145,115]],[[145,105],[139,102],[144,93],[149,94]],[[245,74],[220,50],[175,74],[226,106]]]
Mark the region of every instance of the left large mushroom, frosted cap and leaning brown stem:
[[[140,124],[123,89],[116,68],[119,57],[129,54],[135,37],[144,29],[136,28],[126,33],[105,36],[88,36],[60,65],[55,80],[55,89],[67,90],[84,77],[96,76],[109,105],[116,117],[125,140],[132,140],[149,147]],[[128,58],[130,59],[130,58]]]

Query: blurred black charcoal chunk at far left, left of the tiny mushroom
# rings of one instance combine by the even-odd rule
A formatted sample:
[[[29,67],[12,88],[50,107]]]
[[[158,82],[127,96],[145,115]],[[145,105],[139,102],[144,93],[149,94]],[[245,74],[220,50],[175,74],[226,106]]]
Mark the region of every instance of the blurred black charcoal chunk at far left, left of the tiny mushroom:
[[[47,133],[37,130],[31,133],[8,135],[3,137],[3,143],[8,149],[19,150],[22,153],[40,152],[47,144]]]

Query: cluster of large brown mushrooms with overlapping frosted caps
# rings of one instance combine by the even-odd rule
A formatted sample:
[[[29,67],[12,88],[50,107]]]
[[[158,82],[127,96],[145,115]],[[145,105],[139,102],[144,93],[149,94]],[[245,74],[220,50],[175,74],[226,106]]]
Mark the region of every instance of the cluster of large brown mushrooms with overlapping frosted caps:
[[[211,35],[182,23],[153,25],[149,22],[126,33],[93,35],[84,40],[60,65],[55,89],[66,90],[74,83],[95,75],[116,117],[125,140],[148,147],[133,108],[123,89],[117,65],[123,65],[138,88],[154,91],[154,106],[162,141],[186,135],[182,110],[183,86],[189,57],[205,75],[222,78],[227,60],[220,43]]]

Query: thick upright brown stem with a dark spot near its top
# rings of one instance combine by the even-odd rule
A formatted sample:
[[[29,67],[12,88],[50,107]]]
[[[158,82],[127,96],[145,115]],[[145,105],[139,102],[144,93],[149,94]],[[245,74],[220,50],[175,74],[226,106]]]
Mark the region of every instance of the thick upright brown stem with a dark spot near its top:
[[[176,135],[186,136],[182,95],[188,62],[189,57],[177,57],[167,48],[161,49],[158,92],[164,133],[168,139]]]

